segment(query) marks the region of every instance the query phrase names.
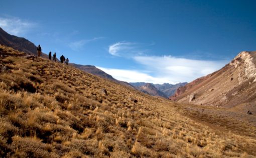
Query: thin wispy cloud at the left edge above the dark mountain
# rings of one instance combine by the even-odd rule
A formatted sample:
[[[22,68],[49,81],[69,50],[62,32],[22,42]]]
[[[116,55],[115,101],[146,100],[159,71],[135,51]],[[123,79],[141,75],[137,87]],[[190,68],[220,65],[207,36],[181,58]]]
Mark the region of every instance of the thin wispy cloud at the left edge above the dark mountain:
[[[0,27],[13,35],[24,35],[36,25],[19,17],[0,17]]]

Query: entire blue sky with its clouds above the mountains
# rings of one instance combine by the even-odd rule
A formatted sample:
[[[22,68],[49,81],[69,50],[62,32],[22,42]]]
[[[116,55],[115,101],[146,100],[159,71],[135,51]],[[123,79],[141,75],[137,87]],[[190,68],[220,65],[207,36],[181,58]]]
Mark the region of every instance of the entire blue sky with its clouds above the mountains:
[[[256,50],[255,0],[2,0],[0,27],[119,80],[192,81]]]

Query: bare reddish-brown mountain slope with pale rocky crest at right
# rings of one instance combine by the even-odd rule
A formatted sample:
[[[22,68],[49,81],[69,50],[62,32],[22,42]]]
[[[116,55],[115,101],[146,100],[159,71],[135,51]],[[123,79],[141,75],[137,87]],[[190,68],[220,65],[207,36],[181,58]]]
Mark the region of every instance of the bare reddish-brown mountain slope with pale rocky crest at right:
[[[170,98],[183,103],[224,107],[254,104],[255,64],[256,51],[242,51],[223,68],[178,88]]]

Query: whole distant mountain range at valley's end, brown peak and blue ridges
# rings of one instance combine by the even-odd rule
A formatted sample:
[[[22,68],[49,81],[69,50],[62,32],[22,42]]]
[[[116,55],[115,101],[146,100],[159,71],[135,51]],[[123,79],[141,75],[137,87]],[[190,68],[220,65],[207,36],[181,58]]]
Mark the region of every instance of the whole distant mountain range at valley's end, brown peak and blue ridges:
[[[180,86],[184,86],[187,82],[177,83],[177,84],[153,84],[153,83],[146,83],[146,82],[130,82],[133,86],[139,89],[142,92],[148,93],[153,96],[162,96],[168,98],[172,96],[176,89]]]

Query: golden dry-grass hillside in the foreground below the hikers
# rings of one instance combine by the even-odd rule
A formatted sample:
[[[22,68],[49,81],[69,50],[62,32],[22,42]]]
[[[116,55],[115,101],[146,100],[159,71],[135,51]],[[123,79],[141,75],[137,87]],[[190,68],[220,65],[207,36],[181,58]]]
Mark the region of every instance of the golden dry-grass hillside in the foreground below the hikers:
[[[256,156],[246,121],[0,47],[1,156]]]

